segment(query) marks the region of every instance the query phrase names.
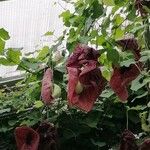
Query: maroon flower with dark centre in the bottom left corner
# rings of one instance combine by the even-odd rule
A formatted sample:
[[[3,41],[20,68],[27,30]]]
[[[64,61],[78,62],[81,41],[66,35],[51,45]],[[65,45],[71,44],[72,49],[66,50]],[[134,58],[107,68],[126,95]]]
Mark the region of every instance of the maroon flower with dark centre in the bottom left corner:
[[[18,150],[37,150],[39,135],[29,127],[18,127],[15,129],[15,139]]]

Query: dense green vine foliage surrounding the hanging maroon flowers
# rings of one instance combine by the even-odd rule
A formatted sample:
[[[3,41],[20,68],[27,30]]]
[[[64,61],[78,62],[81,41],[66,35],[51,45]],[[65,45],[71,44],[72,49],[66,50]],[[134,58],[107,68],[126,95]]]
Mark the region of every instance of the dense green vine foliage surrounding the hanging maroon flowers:
[[[5,42],[10,37],[3,28],[0,29],[0,64],[18,65],[18,70],[26,71],[23,80],[0,91],[0,149],[15,149],[16,127],[27,125],[35,128],[44,120],[58,129],[58,147],[62,150],[116,150],[125,129],[132,131],[136,135],[136,142],[141,143],[150,133],[149,2],[64,1],[74,9],[64,10],[60,14],[65,26],[63,35],[51,47],[37,50],[34,58],[30,54],[22,55],[18,49],[5,49]],[[54,34],[48,31],[45,36]],[[132,40],[125,43],[125,47],[117,43],[124,39],[136,39],[140,57],[132,53],[131,47],[136,47]],[[96,63],[101,65],[101,73],[106,80],[105,88],[92,110],[88,109],[89,112],[80,110],[80,107],[69,107],[67,102],[68,52],[72,54],[78,43],[98,50],[100,55]],[[63,48],[58,51],[60,47]],[[129,51],[122,50],[124,48]],[[124,96],[119,96],[110,82],[114,66],[125,70],[131,66],[138,68],[138,74],[131,70],[127,78],[127,81],[133,81],[125,84],[128,90],[126,103],[123,103]],[[57,86],[55,92],[59,90],[50,105],[41,100],[41,81],[48,67],[53,71],[52,80]],[[118,78],[115,78],[115,82],[119,82]]]

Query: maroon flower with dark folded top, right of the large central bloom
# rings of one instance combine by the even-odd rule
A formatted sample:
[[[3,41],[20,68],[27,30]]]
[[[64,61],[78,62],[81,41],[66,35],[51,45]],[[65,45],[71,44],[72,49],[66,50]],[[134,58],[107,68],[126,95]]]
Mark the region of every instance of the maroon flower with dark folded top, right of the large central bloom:
[[[142,63],[139,62],[141,57],[140,48],[138,47],[137,41],[135,39],[125,39],[117,41],[117,43],[122,46],[123,50],[131,50],[134,54],[136,64],[131,64],[129,67],[114,67],[112,77],[110,79],[110,86],[121,99],[121,101],[126,101],[128,98],[127,87],[131,81],[135,80],[140,74],[140,69],[142,69]]]

